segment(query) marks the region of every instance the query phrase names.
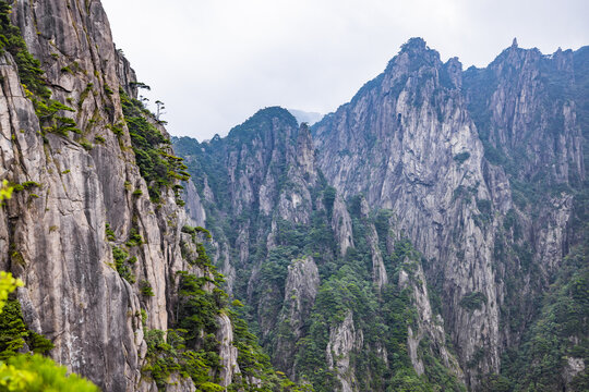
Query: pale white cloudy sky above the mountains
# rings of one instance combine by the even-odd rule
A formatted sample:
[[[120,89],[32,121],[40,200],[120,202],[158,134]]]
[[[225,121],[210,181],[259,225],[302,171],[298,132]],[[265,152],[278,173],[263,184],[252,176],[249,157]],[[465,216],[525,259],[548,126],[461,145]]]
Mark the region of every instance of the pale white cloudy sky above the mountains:
[[[112,36],[166,103],[175,136],[199,140],[257,110],[329,113],[411,37],[443,61],[485,66],[512,45],[589,45],[587,0],[103,0]]]

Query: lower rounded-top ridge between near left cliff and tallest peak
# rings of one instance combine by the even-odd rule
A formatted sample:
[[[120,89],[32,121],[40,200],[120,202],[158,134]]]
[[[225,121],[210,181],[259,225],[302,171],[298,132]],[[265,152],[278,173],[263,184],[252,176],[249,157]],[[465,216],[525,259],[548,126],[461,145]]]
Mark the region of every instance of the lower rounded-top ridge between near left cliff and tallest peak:
[[[316,391],[412,382],[460,390],[442,317],[436,313],[437,329],[430,328],[432,315],[419,321],[411,298],[429,302],[428,293],[413,295],[413,286],[398,282],[409,245],[401,246],[393,217],[374,215],[363,198],[347,204],[327,185],[305,125],[268,108],[225,138],[177,138],[175,148],[206,200],[215,248],[230,249],[217,252],[229,257],[217,265],[237,277],[228,285],[249,305],[250,323],[277,369]],[[419,358],[436,364],[422,379],[406,348],[411,326],[420,331]],[[387,333],[395,339],[383,341]]]

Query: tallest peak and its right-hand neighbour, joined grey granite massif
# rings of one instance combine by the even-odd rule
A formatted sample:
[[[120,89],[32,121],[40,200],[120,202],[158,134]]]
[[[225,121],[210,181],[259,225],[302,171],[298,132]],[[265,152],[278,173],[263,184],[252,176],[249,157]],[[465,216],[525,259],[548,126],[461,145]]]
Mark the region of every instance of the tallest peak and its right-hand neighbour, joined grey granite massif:
[[[519,342],[526,321],[500,326],[518,311],[531,318],[530,303],[575,243],[570,189],[585,179],[575,56],[514,45],[486,69],[462,72],[413,38],[313,127],[327,181],[345,197],[362,193],[371,208],[390,209],[429,259],[425,279],[443,295],[472,388],[477,375],[501,369],[501,353]],[[507,261],[501,248],[516,257]],[[517,287],[505,284],[513,268]],[[484,297],[474,311],[460,306],[473,293]]]

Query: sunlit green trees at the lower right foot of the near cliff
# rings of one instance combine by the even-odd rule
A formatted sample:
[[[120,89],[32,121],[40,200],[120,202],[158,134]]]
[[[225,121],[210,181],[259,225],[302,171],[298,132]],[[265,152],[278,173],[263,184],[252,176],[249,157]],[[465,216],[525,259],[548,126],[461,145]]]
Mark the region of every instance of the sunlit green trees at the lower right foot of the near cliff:
[[[184,226],[183,232],[209,236],[202,228]],[[203,256],[206,252],[203,248]],[[177,307],[176,330],[167,334],[159,330],[149,330],[145,334],[147,343],[146,366],[143,373],[151,377],[159,390],[165,390],[172,373],[190,377],[199,391],[224,391],[218,384],[220,357],[219,342],[216,339],[218,318],[227,314],[233,324],[233,345],[238,348],[238,364],[243,377],[235,379],[229,391],[312,391],[299,387],[275,373],[268,357],[257,344],[255,335],[237,311],[229,310],[228,296],[220,289],[223,277],[209,264],[201,266],[204,277],[196,277],[180,271],[179,303]],[[233,301],[236,306],[239,302]],[[252,377],[260,380],[261,387],[250,383]]]

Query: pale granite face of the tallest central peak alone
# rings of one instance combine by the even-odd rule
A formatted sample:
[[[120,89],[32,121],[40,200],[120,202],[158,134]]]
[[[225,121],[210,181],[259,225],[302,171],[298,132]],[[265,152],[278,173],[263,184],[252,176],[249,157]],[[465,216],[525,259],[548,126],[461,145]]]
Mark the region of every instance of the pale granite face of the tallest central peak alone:
[[[498,303],[492,268],[493,225],[478,224],[477,201],[491,200],[484,150],[460,89],[461,68],[444,64],[421,39],[411,39],[385,72],[315,128],[317,161],[344,196],[365,195],[368,205],[392,210],[399,230],[444,277],[445,318],[455,345],[469,360],[480,348],[483,371],[498,370]],[[505,182],[501,171],[497,181]],[[506,212],[506,203],[493,210]],[[461,257],[460,257],[461,256]],[[377,262],[377,256],[375,256]],[[488,306],[473,315],[460,306],[469,292],[484,292]],[[452,309],[452,311],[450,311]]]

